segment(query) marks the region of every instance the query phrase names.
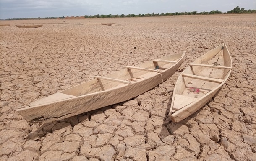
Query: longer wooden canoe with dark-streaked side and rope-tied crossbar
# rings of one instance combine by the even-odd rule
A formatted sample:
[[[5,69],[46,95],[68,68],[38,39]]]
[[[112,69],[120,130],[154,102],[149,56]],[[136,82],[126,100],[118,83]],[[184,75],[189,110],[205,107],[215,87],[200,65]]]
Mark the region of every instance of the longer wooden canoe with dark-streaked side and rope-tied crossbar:
[[[17,109],[27,121],[50,122],[129,100],[156,87],[182,64],[185,52],[96,76],[62,92]]]

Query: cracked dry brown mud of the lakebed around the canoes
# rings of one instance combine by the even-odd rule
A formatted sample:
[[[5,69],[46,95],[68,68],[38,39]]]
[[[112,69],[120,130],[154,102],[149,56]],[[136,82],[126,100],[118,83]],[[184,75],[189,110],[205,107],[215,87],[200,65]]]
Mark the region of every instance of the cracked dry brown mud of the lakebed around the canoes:
[[[10,21],[0,27],[0,160],[256,161],[255,16]],[[25,23],[43,26],[14,26]],[[229,79],[207,105],[172,123],[172,92],[162,94],[164,87],[173,89],[188,63],[221,43],[232,56]],[[44,124],[15,111],[95,75],[181,51],[178,72],[132,100]]]

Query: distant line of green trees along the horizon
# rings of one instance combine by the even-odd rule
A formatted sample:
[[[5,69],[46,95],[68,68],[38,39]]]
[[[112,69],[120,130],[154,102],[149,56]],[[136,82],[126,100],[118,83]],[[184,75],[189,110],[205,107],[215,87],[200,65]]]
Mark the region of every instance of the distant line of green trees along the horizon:
[[[221,12],[219,10],[212,10],[210,12],[204,11],[204,12],[175,12],[175,13],[146,13],[146,14],[128,14],[128,15],[84,15],[85,18],[118,18],[118,17],[156,17],[156,16],[173,16],[173,15],[212,15],[212,14],[232,14],[232,13],[256,13],[256,10],[245,10],[245,8],[240,8],[239,6],[235,7],[233,10],[227,11],[227,12]],[[76,16],[79,17],[79,16]],[[62,18],[64,19],[65,17],[44,17],[44,18],[8,18],[5,20],[31,20],[31,19],[57,19],[57,18]]]

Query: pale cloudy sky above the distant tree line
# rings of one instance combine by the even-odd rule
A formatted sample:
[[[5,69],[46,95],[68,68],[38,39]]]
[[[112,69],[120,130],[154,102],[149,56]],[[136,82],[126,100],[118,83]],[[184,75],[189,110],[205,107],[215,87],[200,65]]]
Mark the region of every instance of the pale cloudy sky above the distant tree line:
[[[256,9],[256,0],[0,0],[0,19]]]

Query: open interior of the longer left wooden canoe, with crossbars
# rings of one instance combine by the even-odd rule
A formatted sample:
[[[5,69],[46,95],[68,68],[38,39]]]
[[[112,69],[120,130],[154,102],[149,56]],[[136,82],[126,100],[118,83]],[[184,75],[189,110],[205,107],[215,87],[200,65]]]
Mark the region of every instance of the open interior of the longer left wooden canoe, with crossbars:
[[[145,63],[139,64],[138,66],[127,66],[126,69],[108,74],[104,77],[95,76],[96,79],[92,79],[89,82],[71,87],[70,89],[66,89],[61,93],[73,96],[81,96],[122,87],[137,81],[142,81],[143,79],[147,79],[157,74],[158,70],[164,71],[172,67],[179,59],[181,59],[182,54],[183,53],[175,54],[172,56],[165,56],[153,61],[147,61]]]

